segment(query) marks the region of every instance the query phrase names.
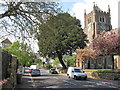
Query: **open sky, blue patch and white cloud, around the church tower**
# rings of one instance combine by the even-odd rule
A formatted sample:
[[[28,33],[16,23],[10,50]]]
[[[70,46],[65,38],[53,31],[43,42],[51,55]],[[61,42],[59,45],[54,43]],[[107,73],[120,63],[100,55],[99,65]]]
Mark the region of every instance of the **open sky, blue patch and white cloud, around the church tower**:
[[[120,0],[59,0],[64,11],[81,20],[84,28],[84,10],[90,13],[93,10],[93,2],[103,11],[111,9],[111,24],[113,29],[118,28],[118,2]]]

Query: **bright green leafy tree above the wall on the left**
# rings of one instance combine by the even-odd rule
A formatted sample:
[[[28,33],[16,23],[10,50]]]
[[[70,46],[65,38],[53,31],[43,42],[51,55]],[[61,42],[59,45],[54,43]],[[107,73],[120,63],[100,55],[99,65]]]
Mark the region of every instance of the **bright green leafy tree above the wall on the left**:
[[[9,47],[3,48],[4,51],[8,51],[10,54],[16,55],[19,63],[28,66],[32,63],[33,52],[26,44],[19,43],[18,41],[11,44]]]

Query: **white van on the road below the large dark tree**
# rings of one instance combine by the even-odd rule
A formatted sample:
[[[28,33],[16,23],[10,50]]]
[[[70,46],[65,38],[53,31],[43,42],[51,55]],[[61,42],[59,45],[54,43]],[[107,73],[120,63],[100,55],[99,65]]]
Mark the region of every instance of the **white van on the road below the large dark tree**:
[[[87,79],[87,74],[84,73],[79,67],[69,67],[67,71],[67,76],[74,79]]]

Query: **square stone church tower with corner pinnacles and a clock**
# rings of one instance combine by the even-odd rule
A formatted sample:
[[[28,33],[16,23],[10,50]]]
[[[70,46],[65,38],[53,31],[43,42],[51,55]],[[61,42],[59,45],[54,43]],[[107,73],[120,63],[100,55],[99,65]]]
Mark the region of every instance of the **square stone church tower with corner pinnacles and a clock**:
[[[102,11],[95,3],[90,13],[86,14],[86,10],[84,11],[84,32],[90,43],[100,32],[103,30],[109,31],[111,29],[109,5],[107,12]]]

